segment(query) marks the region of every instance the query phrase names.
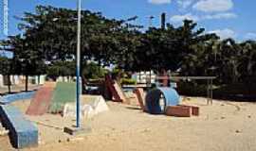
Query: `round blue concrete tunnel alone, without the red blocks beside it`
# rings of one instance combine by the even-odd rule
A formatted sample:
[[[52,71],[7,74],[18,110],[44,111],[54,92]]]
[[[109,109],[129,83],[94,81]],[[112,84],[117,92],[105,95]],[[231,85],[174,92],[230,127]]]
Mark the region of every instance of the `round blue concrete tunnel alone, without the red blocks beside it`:
[[[168,106],[177,106],[178,104],[179,95],[172,88],[158,87],[146,95],[146,108],[152,114],[162,114]]]

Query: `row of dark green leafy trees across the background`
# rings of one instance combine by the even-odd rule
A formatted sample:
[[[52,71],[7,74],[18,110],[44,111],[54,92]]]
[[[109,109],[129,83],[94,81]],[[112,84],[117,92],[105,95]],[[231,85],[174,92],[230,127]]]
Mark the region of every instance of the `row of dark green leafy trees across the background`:
[[[76,10],[38,6],[34,13],[25,12],[17,19],[23,34],[1,41],[13,59],[0,59],[0,74],[75,74]],[[218,85],[256,82],[255,41],[220,40],[190,20],[177,27],[167,24],[143,30],[143,26],[131,24],[136,19],[108,19],[100,12],[82,10],[82,70],[87,60],[94,60],[124,71],[217,76]]]

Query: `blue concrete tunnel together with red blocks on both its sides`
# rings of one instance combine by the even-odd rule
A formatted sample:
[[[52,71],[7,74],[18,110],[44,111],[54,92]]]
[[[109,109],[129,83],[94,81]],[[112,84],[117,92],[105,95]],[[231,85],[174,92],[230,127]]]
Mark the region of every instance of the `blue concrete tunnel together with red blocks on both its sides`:
[[[199,116],[196,106],[181,105],[178,93],[169,87],[157,87],[144,95],[143,89],[135,90],[138,105],[151,114],[166,114],[176,117]]]

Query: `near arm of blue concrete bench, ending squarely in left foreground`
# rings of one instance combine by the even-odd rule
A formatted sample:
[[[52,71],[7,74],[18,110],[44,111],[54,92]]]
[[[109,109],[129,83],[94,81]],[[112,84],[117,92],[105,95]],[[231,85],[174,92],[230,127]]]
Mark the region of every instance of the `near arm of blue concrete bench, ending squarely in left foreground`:
[[[9,129],[10,143],[15,148],[38,145],[37,127],[27,121],[19,109],[9,105],[0,106],[0,119],[3,126]]]

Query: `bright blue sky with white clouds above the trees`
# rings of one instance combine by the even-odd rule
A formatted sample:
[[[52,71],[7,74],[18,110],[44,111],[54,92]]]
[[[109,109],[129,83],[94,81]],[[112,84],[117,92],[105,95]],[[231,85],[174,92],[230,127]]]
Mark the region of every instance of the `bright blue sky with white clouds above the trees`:
[[[8,0],[9,35],[19,33],[18,21],[24,11],[34,11],[37,5],[76,8],[76,0]],[[167,21],[180,25],[184,19],[193,19],[206,32],[217,33],[222,38],[238,41],[256,40],[255,0],[82,0],[82,8],[101,11],[109,18],[126,19],[138,16],[137,24],[149,25],[148,17],[154,15],[153,24],[158,26],[161,12],[167,13]],[[3,1],[0,6],[0,39],[3,33]]]

